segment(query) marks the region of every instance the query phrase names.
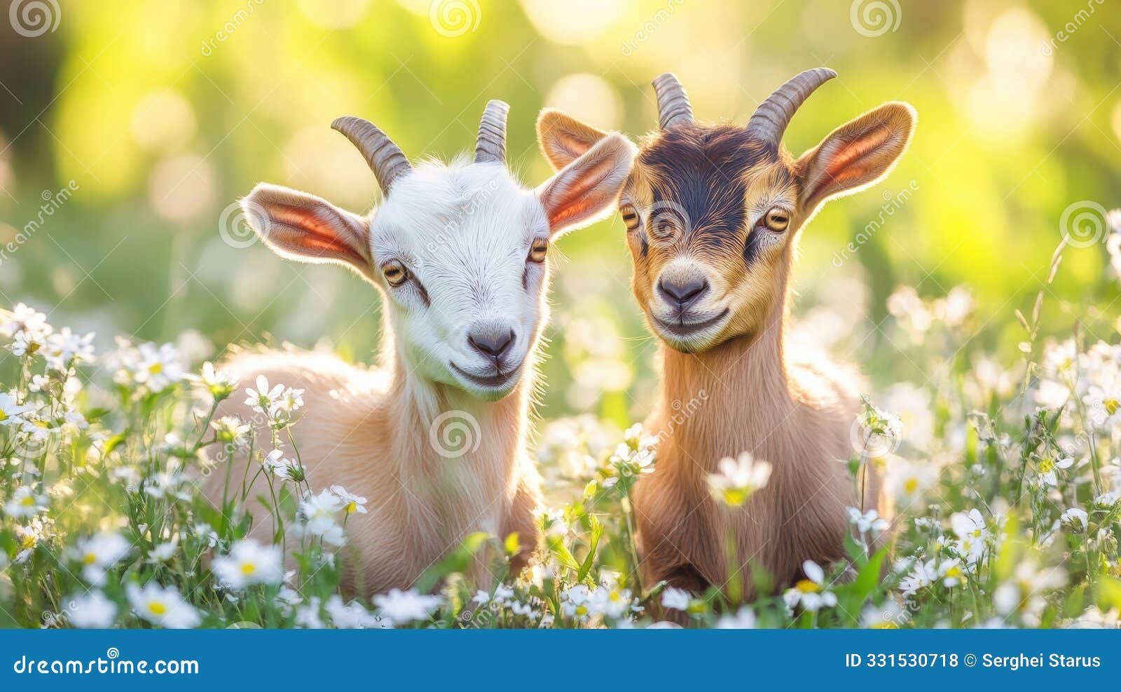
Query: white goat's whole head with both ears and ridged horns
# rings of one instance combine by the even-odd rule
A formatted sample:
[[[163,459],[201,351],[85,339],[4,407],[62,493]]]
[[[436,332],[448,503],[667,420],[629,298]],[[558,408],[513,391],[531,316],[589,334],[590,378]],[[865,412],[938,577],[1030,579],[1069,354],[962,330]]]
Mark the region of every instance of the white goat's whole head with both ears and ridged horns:
[[[258,185],[243,202],[277,252],[345,264],[385,292],[406,369],[483,399],[515,388],[537,344],[549,242],[610,213],[634,156],[624,137],[605,136],[526,190],[504,165],[504,110],[500,121],[488,120],[495,103],[474,162],[447,166],[413,168],[399,150],[387,154],[396,146],[372,124],[343,123],[387,191],[368,216],[272,185]],[[498,128],[500,151],[487,140]]]

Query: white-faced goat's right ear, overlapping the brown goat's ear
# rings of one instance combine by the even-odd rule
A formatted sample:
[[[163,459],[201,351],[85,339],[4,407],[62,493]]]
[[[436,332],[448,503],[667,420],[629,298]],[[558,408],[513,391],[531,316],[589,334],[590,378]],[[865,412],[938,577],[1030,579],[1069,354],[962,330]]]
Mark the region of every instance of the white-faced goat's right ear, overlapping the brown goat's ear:
[[[553,234],[609,214],[633,162],[634,145],[612,132],[538,187]]]

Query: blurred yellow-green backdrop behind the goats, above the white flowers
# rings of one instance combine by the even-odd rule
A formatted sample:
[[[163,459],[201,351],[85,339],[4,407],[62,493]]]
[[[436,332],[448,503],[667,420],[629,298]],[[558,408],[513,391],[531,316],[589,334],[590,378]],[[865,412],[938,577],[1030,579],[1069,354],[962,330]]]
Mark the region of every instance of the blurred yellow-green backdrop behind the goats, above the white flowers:
[[[795,154],[908,101],[910,151],[817,215],[796,269],[803,333],[877,382],[924,377],[880,329],[898,286],[967,286],[972,345],[1015,354],[1012,311],[1030,311],[1062,224],[1093,231],[1121,202],[1121,9],[1097,0],[16,0],[4,19],[0,246],[16,249],[0,257],[0,299],[94,330],[102,347],[117,333],[180,340],[195,357],[326,341],[369,361],[377,293],[249,243],[229,206],[269,181],[368,210],[373,176],[330,129],[341,114],[374,121],[413,158],[446,159],[503,99],[512,166],[536,185],[549,175],[540,108],[638,137],[656,123],[649,82],[665,71],[698,118],[742,123],[796,72],[835,68],[788,130]],[[630,295],[622,223],[558,249],[543,413],[640,418],[656,344]],[[1051,290],[1055,332],[1073,306],[1110,314],[1105,242],[1068,250]]]

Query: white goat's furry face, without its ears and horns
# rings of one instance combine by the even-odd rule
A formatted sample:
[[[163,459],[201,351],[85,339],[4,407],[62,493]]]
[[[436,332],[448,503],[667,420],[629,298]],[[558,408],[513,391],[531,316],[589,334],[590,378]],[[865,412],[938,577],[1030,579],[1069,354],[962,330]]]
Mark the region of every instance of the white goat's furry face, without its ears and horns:
[[[518,381],[547,320],[549,222],[503,166],[420,166],[371,227],[410,367],[481,397]]]

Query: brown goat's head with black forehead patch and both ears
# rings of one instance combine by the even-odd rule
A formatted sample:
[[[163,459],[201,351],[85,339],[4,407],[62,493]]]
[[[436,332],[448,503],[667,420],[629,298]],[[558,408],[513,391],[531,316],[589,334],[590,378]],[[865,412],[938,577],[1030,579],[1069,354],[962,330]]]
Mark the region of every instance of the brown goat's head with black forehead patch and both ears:
[[[914,123],[909,105],[887,103],[795,159],[772,130],[696,124],[687,101],[683,109],[660,92],[659,105],[677,117],[643,141],[619,210],[634,296],[655,333],[684,352],[766,329],[785,299],[798,230],[824,200],[886,175]],[[555,164],[599,136],[555,111],[538,121]]]

